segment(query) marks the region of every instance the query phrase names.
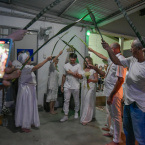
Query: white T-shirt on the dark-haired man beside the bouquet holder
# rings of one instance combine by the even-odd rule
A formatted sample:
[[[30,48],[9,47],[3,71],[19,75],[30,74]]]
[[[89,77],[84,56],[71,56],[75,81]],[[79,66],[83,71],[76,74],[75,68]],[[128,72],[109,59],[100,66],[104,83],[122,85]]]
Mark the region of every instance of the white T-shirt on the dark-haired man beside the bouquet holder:
[[[80,64],[74,64],[71,65],[70,63],[67,63],[64,65],[64,75],[66,75],[66,80],[64,83],[64,88],[68,89],[79,89],[80,88],[80,82],[78,78],[73,77],[72,75],[68,75],[66,71],[71,70],[73,73],[79,73],[82,74],[82,69]]]

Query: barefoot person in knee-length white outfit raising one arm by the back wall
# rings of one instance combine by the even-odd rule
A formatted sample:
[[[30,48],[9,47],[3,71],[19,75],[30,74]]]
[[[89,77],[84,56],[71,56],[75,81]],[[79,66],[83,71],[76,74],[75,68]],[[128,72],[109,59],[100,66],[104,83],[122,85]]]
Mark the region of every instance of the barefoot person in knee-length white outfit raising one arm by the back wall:
[[[58,80],[59,80],[59,71],[58,71],[58,57],[63,53],[63,50],[55,57],[52,57],[52,61],[49,66],[49,76],[48,76],[48,93],[46,102],[50,102],[50,114],[56,114],[54,111],[55,102],[57,100],[58,94]]]

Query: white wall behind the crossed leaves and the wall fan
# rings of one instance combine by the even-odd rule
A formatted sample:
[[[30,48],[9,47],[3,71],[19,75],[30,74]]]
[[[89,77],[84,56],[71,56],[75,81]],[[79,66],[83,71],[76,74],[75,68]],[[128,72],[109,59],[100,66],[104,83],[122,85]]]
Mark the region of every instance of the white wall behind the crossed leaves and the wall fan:
[[[19,27],[19,28],[23,28],[30,21],[28,19],[8,17],[8,16],[0,16],[0,19],[1,19],[0,25],[10,26],[10,27]],[[65,26],[62,24],[37,21],[29,29],[30,30],[40,30],[40,27],[46,28],[46,27],[49,27],[50,25],[54,28],[54,34],[56,34],[61,28],[63,28]],[[85,41],[85,29],[82,32],[80,32],[81,29],[82,29],[81,27],[76,27],[76,26],[72,27],[71,29],[69,29],[69,33],[63,37],[63,39],[65,41],[69,41],[69,39],[73,35],[77,35],[83,41]],[[57,40],[58,40],[58,37],[54,38],[52,41],[50,41],[47,45],[45,45],[38,52],[38,63],[40,63],[44,60],[44,58],[43,58],[44,54],[46,56],[51,55],[53,46]],[[44,43],[44,40],[38,40],[38,47],[40,47],[43,43]],[[85,46],[82,42],[80,42],[80,40],[78,40],[77,38],[74,38],[70,44],[74,45],[74,47],[77,48],[78,51],[82,55],[85,55]],[[58,45],[56,46],[54,55],[57,55],[64,46],[65,46],[65,44],[60,41],[58,43]],[[66,48],[68,48],[68,47],[66,47]],[[65,50],[64,53],[62,54],[62,56],[60,56],[60,61],[59,61],[60,79],[61,79],[61,75],[63,72],[63,65],[65,62],[66,55],[67,55],[67,52]],[[79,55],[78,55],[78,59],[79,59],[80,64],[82,65],[83,60]],[[47,89],[48,67],[49,67],[49,63],[45,64],[42,68],[40,68],[38,70],[38,74],[37,74],[37,77],[38,77],[37,78],[38,79],[38,104],[40,104],[40,105],[43,104],[43,96]]]

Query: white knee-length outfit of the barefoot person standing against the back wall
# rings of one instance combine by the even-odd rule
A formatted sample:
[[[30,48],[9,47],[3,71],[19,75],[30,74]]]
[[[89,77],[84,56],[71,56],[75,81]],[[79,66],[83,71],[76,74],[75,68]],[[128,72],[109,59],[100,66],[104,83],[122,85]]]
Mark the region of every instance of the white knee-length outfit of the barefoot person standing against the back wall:
[[[59,80],[59,72],[56,69],[54,62],[51,62],[49,67],[48,90],[47,90],[46,102],[57,100],[58,80]]]

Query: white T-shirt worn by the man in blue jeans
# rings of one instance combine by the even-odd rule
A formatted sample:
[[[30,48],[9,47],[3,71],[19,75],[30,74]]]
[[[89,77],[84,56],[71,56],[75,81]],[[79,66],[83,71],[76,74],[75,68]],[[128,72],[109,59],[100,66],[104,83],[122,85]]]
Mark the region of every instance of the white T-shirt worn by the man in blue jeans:
[[[138,62],[135,57],[120,60],[124,67],[129,67],[125,84],[125,105],[136,102],[145,112],[145,61]]]

